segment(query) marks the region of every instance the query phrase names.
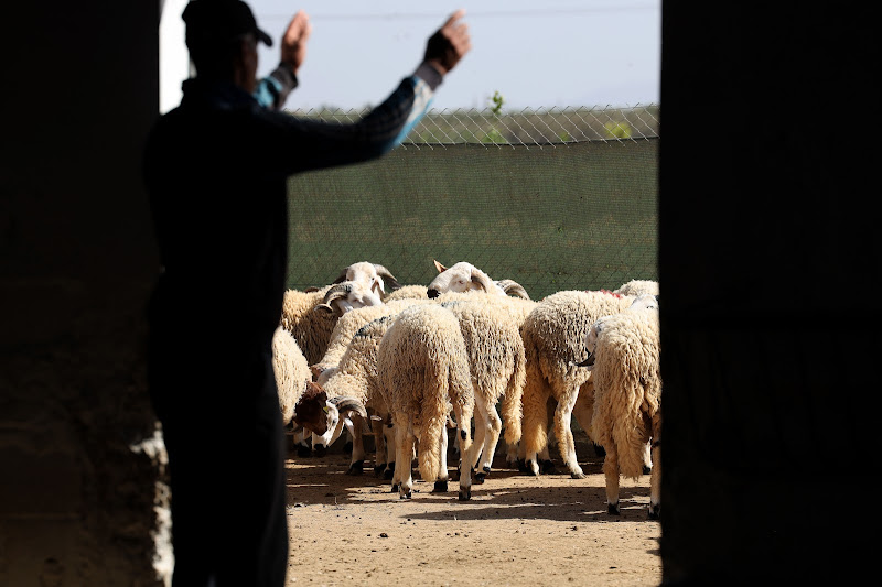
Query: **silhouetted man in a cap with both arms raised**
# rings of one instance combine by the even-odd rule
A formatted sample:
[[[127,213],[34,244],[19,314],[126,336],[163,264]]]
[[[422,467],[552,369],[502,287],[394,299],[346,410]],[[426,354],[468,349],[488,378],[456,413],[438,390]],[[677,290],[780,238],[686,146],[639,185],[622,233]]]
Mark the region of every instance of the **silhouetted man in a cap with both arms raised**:
[[[286,178],[399,144],[471,48],[462,17],[429,39],[383,104],[340,124],[279,111],[305,57],[305,13],[290,21],[279,66],[257,80],[257,43],[272,41],[245,2],[191,0],[184,10],[196,75],[152,129],[143,161],[161,263],[148,309],[149,382],[169,454],[175,587],[283,584],[271,338],[286,289]]]

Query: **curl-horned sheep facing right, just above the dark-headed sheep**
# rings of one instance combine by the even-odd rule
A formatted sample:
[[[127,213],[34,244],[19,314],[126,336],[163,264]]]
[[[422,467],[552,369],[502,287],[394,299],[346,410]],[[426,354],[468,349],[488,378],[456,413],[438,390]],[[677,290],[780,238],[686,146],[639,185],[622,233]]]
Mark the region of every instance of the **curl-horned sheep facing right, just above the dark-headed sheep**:
[[[288,290],[279,324],[293,335],[306,362],[312,365],[324,355],[334,325],[346,309],[380,303],[379,296],[355,282],[304,292]]]

